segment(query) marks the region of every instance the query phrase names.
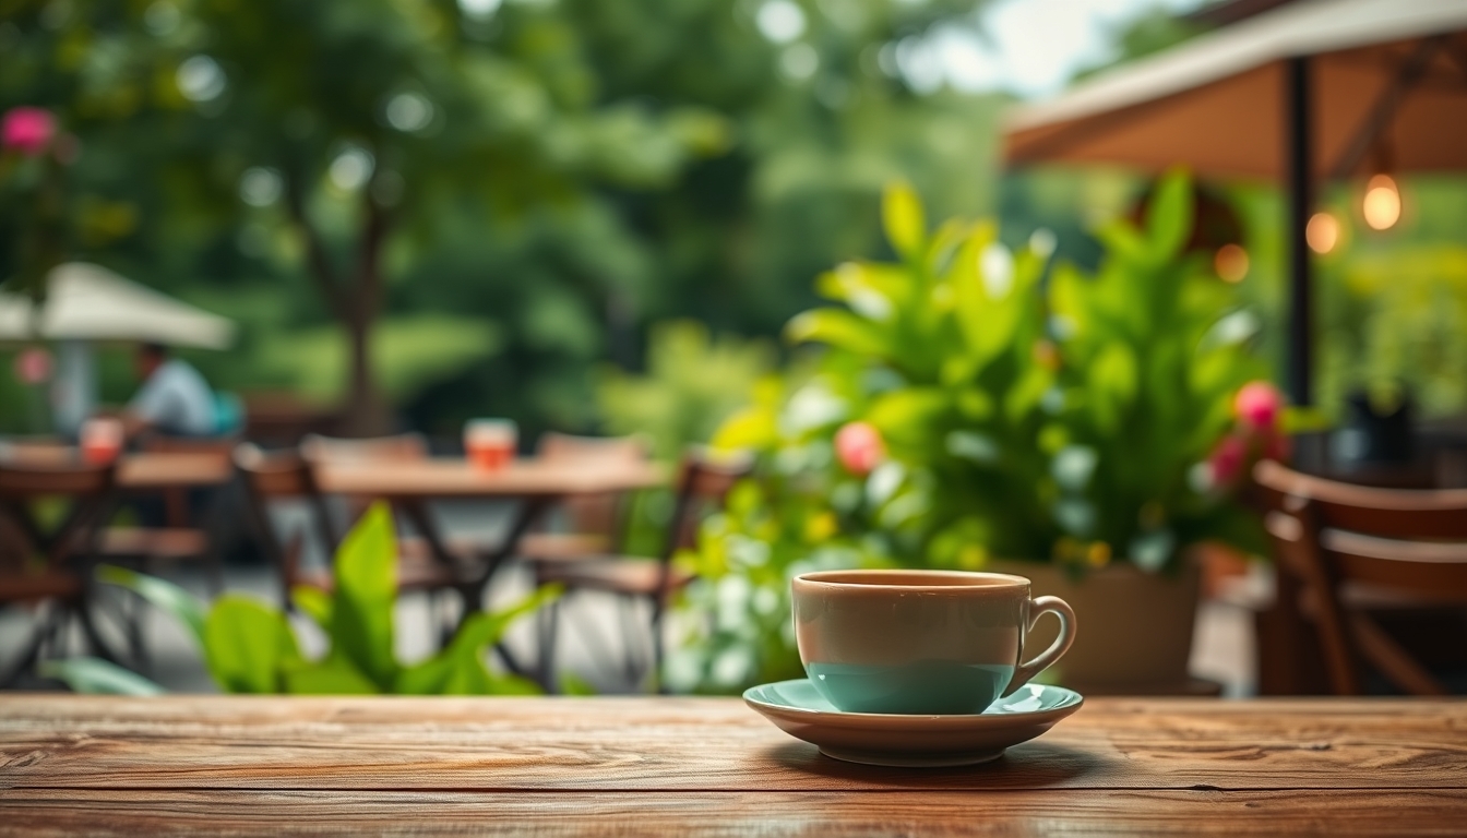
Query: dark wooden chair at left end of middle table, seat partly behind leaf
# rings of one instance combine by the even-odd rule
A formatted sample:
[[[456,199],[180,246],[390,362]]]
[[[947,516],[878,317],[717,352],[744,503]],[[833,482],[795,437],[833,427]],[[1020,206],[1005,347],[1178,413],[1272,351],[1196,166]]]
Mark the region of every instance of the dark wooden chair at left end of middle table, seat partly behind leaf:
[[[267,558],[280,574],[280,597],[286,608],[293,608],[290,590],[308,586],[330,591],[334,577],[330,568],[304,568],[301,552],[307,536],[314,536],[329,556],[334,556],[340,534],[333,527],[326,499],[315,487],[311,465],[293,451],[267,453],[245,443],[235,449],[235,467],[239,470],[246,496],[251,524]],[[270,520],[270,506],[283,500],[301,500],[307,506],[305,527],[298,527],[286,539],[276,534]],[[308,531],[314,530],[314,533]],[[414,550],[399,553],[398,590],[437,594],[462,590],[474,578],[471,568],[437,561],[431,553]]]

